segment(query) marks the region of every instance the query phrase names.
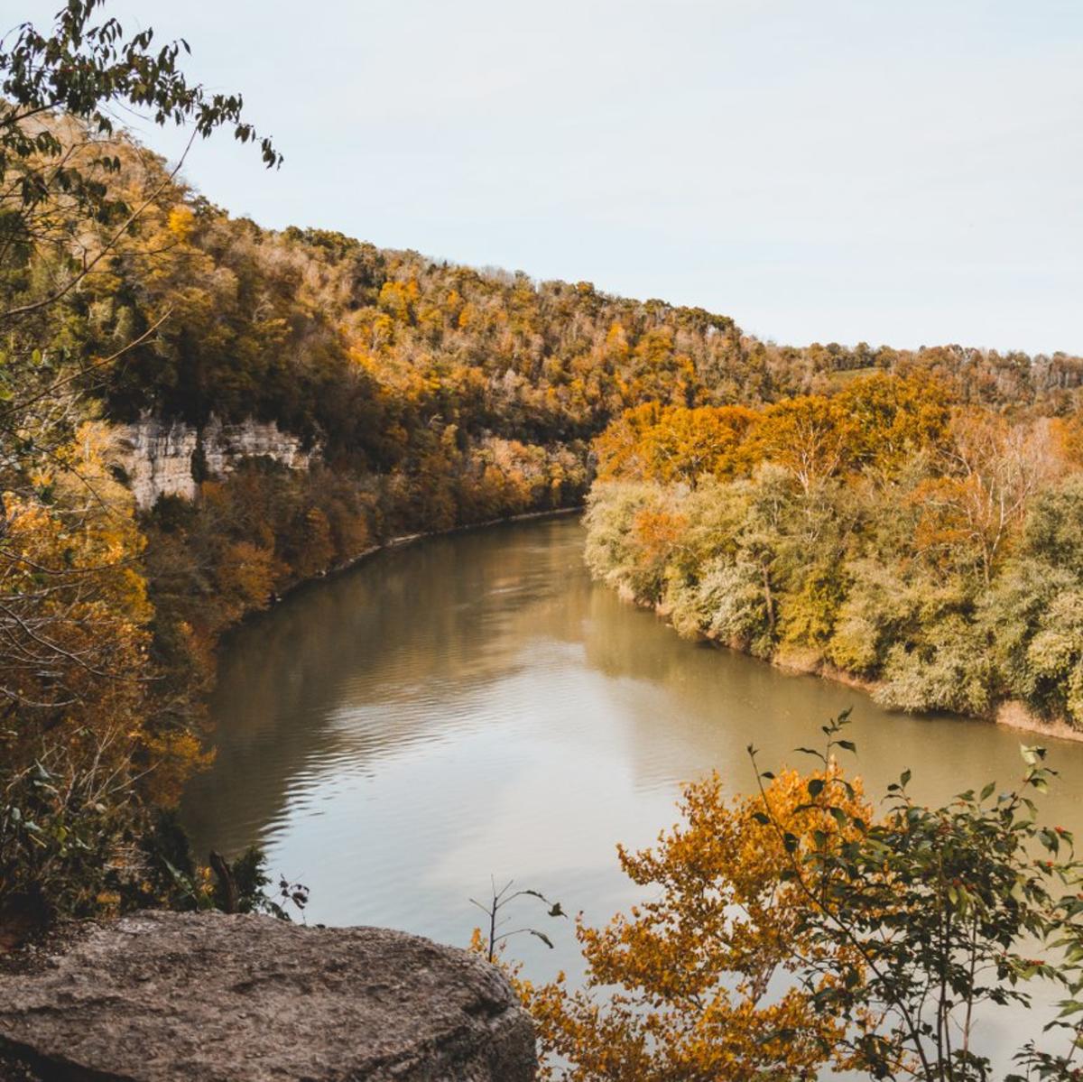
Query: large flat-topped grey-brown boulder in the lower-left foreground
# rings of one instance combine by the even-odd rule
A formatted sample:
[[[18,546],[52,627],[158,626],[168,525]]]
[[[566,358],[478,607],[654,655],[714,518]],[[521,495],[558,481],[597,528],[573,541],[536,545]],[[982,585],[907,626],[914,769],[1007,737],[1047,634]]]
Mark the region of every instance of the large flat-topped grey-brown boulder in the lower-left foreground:
[[[43,1079],[526,1082],[534,1030],[483,960],[401,931],[138,913],[0,976],[0,1051]]]

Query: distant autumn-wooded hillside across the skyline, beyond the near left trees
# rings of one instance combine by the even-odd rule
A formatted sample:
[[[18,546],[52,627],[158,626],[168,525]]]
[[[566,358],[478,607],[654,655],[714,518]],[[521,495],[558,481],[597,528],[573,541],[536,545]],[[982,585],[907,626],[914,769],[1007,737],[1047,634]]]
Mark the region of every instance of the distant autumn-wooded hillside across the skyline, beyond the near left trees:
[[[47,361],[89,368],[106,419],[274,420],[325,464],[203,478],[195,507],[144,524],[159,661],[184,659],[188,676],[210,668],[223,626],[382,537],[578,503],[589,441],[642,403],[752,407],[919,370],[961,404],[1065,414],[1083,379],[1059,354],[780,348],[702,309],[264,231],[145,151],[116,151],[105,183],[148,203],[107,265],[50,310]],[[47,289],[27,263],[5,302]]]

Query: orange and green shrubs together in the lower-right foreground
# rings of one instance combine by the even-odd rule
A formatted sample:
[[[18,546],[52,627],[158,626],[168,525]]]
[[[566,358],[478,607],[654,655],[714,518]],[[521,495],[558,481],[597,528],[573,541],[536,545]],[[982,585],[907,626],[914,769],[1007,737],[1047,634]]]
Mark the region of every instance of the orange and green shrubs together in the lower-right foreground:
[[[731,799],[717,777],[689,785],[655,849],[618,850],[649,889],[605,927],[577,922],[585,987],[519,980],[546,1077],[810,1079],[831,1066],[977,1082],[992,1077],[978,1013],[1029,1009],[1035,979],[1066,994],[1046,1030],[1083,1044],[1081,869],[1070,834],[1036,819],[1044,751],[1023,747],[1015,790],[991,782],[941,807],[916,801],[904,771],[874,817],[836,761],[856,751],[846,721],[823,726],[822,751],[799,749],[812,772],[765,771],[756,795]],[[1038,1039],[1016,1056],[1042,1079],[1074,1077],[1071,1058]]]

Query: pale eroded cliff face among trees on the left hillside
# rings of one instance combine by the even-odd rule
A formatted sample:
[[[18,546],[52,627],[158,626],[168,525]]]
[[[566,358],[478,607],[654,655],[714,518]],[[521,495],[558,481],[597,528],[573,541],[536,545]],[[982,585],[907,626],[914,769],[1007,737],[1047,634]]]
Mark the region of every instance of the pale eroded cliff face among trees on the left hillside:
[[[246,458],[271,458],[289,469],[308,469],[318,448],[304,449],[301,440],[274,421],[246,420],[223,425],[216,417],[203,427],[143,417],[115,428],[115,461],[128,478],[140,508],[159,496],[196,494],[198,467],[222,475]]]

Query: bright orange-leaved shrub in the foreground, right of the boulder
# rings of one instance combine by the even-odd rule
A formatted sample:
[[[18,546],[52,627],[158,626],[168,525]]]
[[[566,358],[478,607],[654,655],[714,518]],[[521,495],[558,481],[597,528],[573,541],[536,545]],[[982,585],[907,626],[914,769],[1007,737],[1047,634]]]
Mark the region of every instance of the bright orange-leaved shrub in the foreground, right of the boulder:
[[[793,985],[811,949],[804,900],[786,884],[790,847],[833,851],[866,820],[859,785],[844,799],[845,830],[809,806],[805,779],[786,771],[760,796],[727,799],[719,778],[689,785],[683,823],[641,852],[618,848],[625,873],[651,888],[603,928],[576,923],[587,985],[563,977],[525,986],[543,1048],[566,1058],[570,1082],[812,1079],[845,1030],[818,1014],[814,989]],[[785,824],[785,836],[773,823]],[[843,948],[846,950],[847,948]],[[784,977],[785,975],[785,977]],[[780,980],[788,990],[778,991]],[[601,989],[610,989],[600,994]]]

